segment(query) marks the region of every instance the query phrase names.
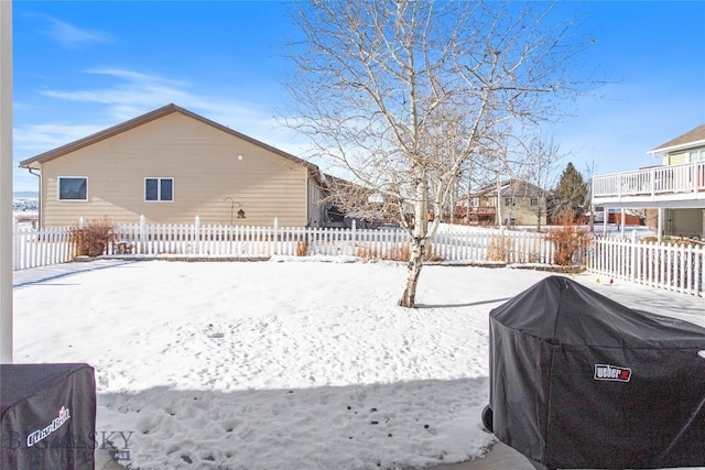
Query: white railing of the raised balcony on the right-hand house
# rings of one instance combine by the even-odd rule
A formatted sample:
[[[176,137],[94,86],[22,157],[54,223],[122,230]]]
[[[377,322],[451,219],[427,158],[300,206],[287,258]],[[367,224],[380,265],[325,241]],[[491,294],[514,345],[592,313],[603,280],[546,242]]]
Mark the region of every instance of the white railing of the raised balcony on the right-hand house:
[[[593,178],[593,200],[705,200],[705,162],[654,166]]]

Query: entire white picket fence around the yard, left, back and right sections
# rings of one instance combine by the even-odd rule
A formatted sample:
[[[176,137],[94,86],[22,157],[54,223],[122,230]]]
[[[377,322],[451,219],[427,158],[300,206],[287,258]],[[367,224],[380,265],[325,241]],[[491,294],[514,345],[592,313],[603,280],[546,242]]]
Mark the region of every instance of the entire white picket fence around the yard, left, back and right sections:
[[[15,228],[13,270],[70,262],[69,228]],[[273,255],[351,255],[403,260],[409,236],[401,229],[330,229],[194,223],[118,225],[107,255],[184,255],[252,259]],[[442,225],[429,248],[430,261],[552,264],[554,247],[546,233]],[[705,249],[691,244],[598,237],[575,260],[605,277],[704,296]]]

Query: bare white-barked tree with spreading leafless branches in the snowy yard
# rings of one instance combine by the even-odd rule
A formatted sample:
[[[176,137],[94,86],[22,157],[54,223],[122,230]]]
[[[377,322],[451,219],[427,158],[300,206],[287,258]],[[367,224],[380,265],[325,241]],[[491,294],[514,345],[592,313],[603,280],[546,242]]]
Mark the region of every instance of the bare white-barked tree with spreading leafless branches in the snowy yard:
[[[512,121],[555,118],[573,97],[571,37],[534,3],[313,0],[295,3],[289,124],[338,176],[393,201],[409,232],[399,305],[413,307],[424,255],[462,168],[501,153]],[[542,7],[543,8],[543,7]],[[406,214],[408,209],[411,214]]]

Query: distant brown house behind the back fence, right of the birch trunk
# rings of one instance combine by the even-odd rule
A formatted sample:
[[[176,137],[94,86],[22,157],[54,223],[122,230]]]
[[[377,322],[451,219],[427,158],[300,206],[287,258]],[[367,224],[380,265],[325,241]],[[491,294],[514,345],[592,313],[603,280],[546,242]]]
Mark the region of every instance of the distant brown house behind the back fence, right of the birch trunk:
[[[456,205],[455,215],[467,219],[469,225],[545,226],[547,196],[545,190],[525,181],[505,181],[499,188],[492,183],[465,196]]]

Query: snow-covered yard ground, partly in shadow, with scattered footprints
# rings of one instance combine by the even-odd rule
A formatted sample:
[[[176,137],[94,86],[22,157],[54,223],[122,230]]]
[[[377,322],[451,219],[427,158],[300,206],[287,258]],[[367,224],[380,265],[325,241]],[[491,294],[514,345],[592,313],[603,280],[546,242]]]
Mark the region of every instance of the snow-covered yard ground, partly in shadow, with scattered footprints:
[[[15,361],[93,364],[97,430],[124,433],[113,444],[133,468],[403,468],[482,455],[489,310],[550,273],[426,266],[420,308],[406,310],[395,305],[401,264],[280,261],[17,272]],[[705,326],[703,298],[574,278]]]

